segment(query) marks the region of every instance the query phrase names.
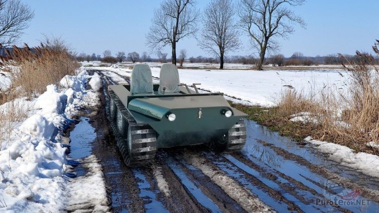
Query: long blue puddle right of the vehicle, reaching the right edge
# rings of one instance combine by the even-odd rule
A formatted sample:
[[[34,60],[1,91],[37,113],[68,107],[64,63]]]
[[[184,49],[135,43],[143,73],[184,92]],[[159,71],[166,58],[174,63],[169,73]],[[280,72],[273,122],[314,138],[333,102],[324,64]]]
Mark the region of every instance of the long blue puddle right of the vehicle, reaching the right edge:
[[[341,200],[339,196],[339,192],[331,188],[334,193],[330,194],[328,193],[323,186],[326,184],[339,184],[335,183],[332,180],[329,180],[319,174],[313,173],[308,167],[299,164],[296,161],[285,159],[283,156],[278,155],[272,148],[269,146],[265,146],[262,143],[258,142],[257,140],[264,140],[269,143],[274,144],[277,147],[283,148],[287,150],[290,153],[296,154],[298,156],[301,156],[311,162],[315,165],[321,165],[324,168],[327,168],[343,177],[346,177],[350,180],[355,180],[360,177],[362,179],[359,179],[359,183],[363,182],[367,187],[373,188],[377,190],[377,186],[375,181],[372,181],[372,178],[365,177],[365,175],[362,175],[359,172],[352,171],[347,169],[345,172],[345,167],[338,165],[336,162],[328,160],[325,158],[324,155],[312,152],[313,150],[309,147],[300,147],[296,144],[296,142],[291,141],[291,139],[282,137],[276,132],[272,132],[268,130],[265,127],[262,127],[261,125],[258,125],[254,121],[245,121],[246,124],[246,131],[248,138],[246,140],[246,145],[243,148],[242,152],[245,155],[246,158],[257,164],[258,166],[265,168],[266,170],[277,173],[277,171],[288,175],[295,180],[303,183],[304,185],[308,186],[309,188],[315,189],[318,193],[323,195],[329,195],[329,199],[339,199]],[[227,156],[226,156],[227,157]],[[229,157],[227,157],[229,159]],[[229,159],[233,161],[233,159]],[[240,162],[236,161],[236,165],[238,166]],[[241,165],[243,166],[243,165]],[[246,166],[247,167],[247,166]],[[247,167],[246,169],[248,169]],[[243,168],[245,170],[245,168]],[[279,174],[279,173],[278,173]],[[353,175],[354,178],[349,178]],[[367,178],[367,179],[365,179]],[[371,179],[371,183],[368,182],[369,179]],[[370,187],[371,186],[371,187]],[[344,188],[346,191],[355,191],[355,189],[349,189]],[[360,200],[366,200],[369,202],[369,204],[341,204],[340,206],[352,211],[366,211],[366,212],[375,212],[375,210],[379,209],[378,203],[376,203],[373,200],[369,200],[363,196],[359,196]],[[297,203],[298,204],[298,203]]]

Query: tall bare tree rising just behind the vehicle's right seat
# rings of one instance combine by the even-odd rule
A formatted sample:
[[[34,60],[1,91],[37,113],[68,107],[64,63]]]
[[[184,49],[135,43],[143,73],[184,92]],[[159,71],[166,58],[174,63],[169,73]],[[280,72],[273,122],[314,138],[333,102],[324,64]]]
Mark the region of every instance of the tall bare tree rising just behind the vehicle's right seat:
[[[159,9],[154,11],[152,26],[146,36],[149,47],[152,50],[160,50],[170,45],[172,63],[176,65],[176,43],[197,32],[198,15],[195,0],[165,0]]]

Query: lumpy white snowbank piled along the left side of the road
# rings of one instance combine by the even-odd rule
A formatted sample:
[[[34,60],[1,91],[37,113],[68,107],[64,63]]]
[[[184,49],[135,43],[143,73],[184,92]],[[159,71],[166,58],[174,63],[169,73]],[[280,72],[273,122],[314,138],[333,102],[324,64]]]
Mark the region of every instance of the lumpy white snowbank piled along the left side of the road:
[[[78,107],[96,101],[96,93],[85,89],[88,78],[86,71],[80,69],[76,76],[62,79],[62,89],[49,85],[37,98],[15,100],[17,106],[27,107],[29,111],[24,121],[14,125],[10,136],[0,138],[2,210],[59,212],[78,203],[92,203],[99,212],[108,210],[101,166],[95,157],[82,160],[93,168],[91,174],[80,180],[69,178],[72,166],[66,158],[67,148],[62,145],[65,139],[62,133],[70,124],[70,117],[77,113]],[[92,82],[96,85],[97,81]],[[0,110],[6,110],[9,104],[0,106]],[[96,180],[96,185],[84,189],[85,184],[81,182],[91,180]]]

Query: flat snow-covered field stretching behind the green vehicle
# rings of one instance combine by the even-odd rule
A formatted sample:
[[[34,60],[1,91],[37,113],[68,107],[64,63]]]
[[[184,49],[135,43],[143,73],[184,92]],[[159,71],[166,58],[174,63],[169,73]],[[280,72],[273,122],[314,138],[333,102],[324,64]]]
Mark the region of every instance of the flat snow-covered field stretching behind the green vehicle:
[[[93,67],[91,69],[111,70],[122,76],[130,76],[130,68]],[[159,78],[160,67],[151,66],[154,77]],[[198,88],[224,94],[261,106],[275,104],[278,95],[289,86],[305,94],[330,87],[335,92],[345,89],[347,74],[344,71],[289,71],[289,70],[202,70],[179,69],[182,83],[201,83]],[[246,103],[246,102],[245,102]]]

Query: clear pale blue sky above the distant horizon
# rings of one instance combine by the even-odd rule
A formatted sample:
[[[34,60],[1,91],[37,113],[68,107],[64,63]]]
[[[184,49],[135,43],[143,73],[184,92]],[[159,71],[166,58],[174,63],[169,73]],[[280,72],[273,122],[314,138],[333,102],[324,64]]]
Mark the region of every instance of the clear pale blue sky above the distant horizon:
[[[102,54],[106,49],[115,55],[149,51],[145,35],[149,32],[153,11],[161,1],[156,0],[22,0],[35,11],[30,28],[21,42],[38,45],[42,33],[61,36],[76,52]],[[197,1],[202,11],[208,0]],[[294,9],[307,23],[307,29],[295,27],[288,40],[279,40],[280,53],[289,57],[294,52],[305,56],[332,53],[354,54],[355,50],[370,51],[379,39],[378,0],[308,0]],[[248,48],[246,36],[241,36],[244,48],[228,55],[254,54]],[[207,56],[195,39],[178,43],[177,51],[186,49],[188,56]],[[171,53],[169,49],[164,52]],[[154,54],[152,54],[153,57]]]

